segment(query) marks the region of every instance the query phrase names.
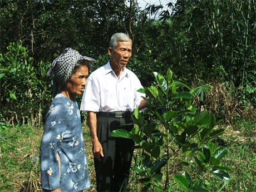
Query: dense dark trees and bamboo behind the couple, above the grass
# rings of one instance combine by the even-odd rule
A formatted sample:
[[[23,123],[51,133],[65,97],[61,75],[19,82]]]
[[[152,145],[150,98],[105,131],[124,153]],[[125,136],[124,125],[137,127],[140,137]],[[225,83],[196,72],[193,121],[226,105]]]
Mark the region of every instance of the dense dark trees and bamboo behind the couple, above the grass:
[[[154,82],[151,71],[165,74],[170,68],[177,80],[183,80],[192,88],[201,87],[195,101],[198,106],[233,122],[243,116],[249,106],[256,106],[255,4],[255,0],[177,0],[175,4],[171,1],[166,4],[172,9],[169,12],[161,11],[163,6],[147,6],[141,10],[137,1],[128,0],[1,0],[1,114],[10,121],[11,117],[3,111],[6,107],[16,105],[30,109],[33,106],[33,102],[25,106],[28,103],[22,100],[6,99],[5,85],[9,85],[12,78],[3,73],[7,67],[15,68],[6,56],[16,57],[8,48],[10,43],[16,48],[21,42],[26,48],[26,55],[31,58],[26,65],[37,73],[34,83],[45,87],[33,90],[35,86],[29,85],[27,80],[21,83],[29,86],[27,90],[40,91],[43,95],[44,89],[51,91],[46,86],[49,84],[45,78],[47,66],[66,47],[95,58],[95,70],[110,58],[107,47],[111,35],[125,32],[133,40],[133,56],[127,67],[136,73],[142,85],[150,86]],[[157,12],[160,13],[158,19],[149,17]],[[17,61],[21,61],[22,55],[17,57]],[[23,65],[22,62],[15,65],[19,64]],[[33,72],[23,74],[32,76]],[[225,100],[216,102],[208,97],[215,94],[216,86],[223,90],[215,99],[225,97]],[[22,97],[23,93],[14,94]],[[33,94],[31,101],[37,98]],[[230,105],[226,103],[227,98]],[[41,98],[50,99],[49,94]],[[30,113],[35,116],[38,108],[32,108],[35,111]],[[14,108],[9,110],[9,114],[17,113]],[[16,119],[19,121],[22,117]]]

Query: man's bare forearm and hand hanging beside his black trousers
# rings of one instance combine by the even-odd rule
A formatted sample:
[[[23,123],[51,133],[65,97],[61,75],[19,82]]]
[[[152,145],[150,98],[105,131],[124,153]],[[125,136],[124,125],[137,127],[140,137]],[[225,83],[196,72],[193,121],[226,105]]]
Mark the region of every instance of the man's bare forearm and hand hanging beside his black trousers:
[[[103,155],[102,146],[101,146],[100,141],[97,137],[97,116],[96,116],[96,112],[92,112],[92,111],[88,112],[88,123],[89,123],[90,132],[91,132],[93,156],[97,160],[101,161],[101,156],[104,157],[104,155]]]

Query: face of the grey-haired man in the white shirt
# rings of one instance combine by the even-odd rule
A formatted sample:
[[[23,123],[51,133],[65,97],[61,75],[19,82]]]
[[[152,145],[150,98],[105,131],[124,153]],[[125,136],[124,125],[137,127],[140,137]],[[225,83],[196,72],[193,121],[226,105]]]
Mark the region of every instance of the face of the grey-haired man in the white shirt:
[[[131,41],[117,42],[115,50],[109,48],[109,55],[111,56],[110,62],[112,65],[124,68],[131,57]]]

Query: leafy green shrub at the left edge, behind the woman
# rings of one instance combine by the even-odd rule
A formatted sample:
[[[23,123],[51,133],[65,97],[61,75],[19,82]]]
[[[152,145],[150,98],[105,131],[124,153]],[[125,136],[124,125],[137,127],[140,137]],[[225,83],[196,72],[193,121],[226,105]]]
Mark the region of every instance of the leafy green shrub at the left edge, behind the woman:
[[[32,63],[21,42],[7,49],[0,60],[2,117],[12,123],[41,124],[51,98],[46,63]]]

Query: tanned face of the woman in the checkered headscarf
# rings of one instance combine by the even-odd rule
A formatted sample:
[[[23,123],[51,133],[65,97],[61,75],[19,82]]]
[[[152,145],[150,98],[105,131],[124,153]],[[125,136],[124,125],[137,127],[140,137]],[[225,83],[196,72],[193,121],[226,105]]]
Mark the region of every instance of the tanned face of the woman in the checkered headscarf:
[[[86,82],[88,77],[88,67],[82,65],[79,67],[70,80],[67,81],[66,85],[62,89],[63,95],[71,100],[75,100],[76,95],[81,95],[85,90]]]

